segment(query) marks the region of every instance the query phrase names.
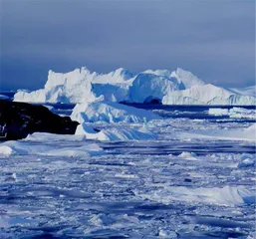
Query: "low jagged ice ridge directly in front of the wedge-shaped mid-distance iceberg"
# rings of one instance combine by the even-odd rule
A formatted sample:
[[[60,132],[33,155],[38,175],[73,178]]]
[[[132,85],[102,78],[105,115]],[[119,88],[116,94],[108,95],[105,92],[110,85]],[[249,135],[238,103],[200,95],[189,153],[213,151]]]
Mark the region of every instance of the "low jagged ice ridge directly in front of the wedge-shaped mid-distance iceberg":
[[[148,140],[157,138],[157,135],[148,130],[146,127],[141,127],[138,129],[114,127],[102,129],[98,132],[92,126],[86,123],[78,125],[76,135],[86,135],[87,139],[104,141]]]

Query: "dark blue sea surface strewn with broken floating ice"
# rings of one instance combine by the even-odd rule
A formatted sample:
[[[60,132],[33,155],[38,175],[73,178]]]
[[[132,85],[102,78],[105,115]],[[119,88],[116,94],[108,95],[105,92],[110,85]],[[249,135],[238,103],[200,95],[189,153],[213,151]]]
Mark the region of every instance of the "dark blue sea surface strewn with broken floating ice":
[[[157,140],[39,137],[20,143],[56,152],[97,144],[104,153],[0,155],[0,238],[254,238],[255,141],[189,133],[255,119],[148,110],[164,117],[146,124]]]

